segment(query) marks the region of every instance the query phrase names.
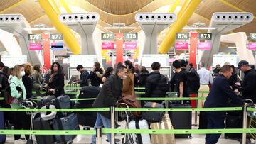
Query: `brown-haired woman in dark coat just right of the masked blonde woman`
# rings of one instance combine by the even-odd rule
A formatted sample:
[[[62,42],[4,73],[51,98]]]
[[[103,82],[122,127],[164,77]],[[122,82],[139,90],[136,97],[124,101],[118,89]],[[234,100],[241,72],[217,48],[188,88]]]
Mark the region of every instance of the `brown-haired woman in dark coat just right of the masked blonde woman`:
[[[22,77],[22,82],[26,88],[26,98],[29,99],[33,97],[32,89],[36,89],[37,91],[40,91],[42,87],[39,84],[36,84],[33,77],[31,77],[31,74],[33,72],[33,67],[30,63],[26,63],[24,65],[25,75]]]

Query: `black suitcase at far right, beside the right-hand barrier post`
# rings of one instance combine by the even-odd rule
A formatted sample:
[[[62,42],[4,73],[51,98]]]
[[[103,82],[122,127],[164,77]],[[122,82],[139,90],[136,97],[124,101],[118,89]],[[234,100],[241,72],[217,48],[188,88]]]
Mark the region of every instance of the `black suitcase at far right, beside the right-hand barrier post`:
[[[227,115],[225,118],[225,128],[242,128],[242,116]],[[224,137],[240,140],[242,133],[225,133]]]

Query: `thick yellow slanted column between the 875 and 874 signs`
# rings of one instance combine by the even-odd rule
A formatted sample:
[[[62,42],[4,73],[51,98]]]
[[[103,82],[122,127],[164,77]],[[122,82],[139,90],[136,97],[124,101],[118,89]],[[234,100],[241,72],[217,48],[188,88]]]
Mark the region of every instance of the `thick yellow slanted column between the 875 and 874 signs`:
[[[177,21],[171,26],[168,33],[166,34],[166,38],[164,38],[163,42],[159,47],[159,53],[166,54],[168,50],[173,45],[176,33],[180,32],[183,26],[186,26],[188,23],[189,18],[193,15],[193,12],[196,10],[197,6],[201,3],[201,0],[191,0],[189,1],[186,9],[184,8],[183,13],[181,16],[178,17]],[[184,6],[184,5],[183,5]]]

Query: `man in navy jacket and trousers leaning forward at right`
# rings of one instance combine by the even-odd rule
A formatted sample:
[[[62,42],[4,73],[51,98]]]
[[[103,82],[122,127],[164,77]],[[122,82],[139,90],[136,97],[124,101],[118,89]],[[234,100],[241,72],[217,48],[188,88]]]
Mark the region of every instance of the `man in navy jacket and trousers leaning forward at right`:
[[[232,75],[230,65],[224,65],[220,69],[220,74],[215,77],[210,93],[204,103],[204,108],[227,107],[231,99],[233,104],[242,106],[244,102],[230,88],[228,79]],[[223,129],[225,128],[225,113],[226,111],[207,111],[208,117],[207,129]],[[206,134],[206,144],[215,144],[218,142],[220,134]]]

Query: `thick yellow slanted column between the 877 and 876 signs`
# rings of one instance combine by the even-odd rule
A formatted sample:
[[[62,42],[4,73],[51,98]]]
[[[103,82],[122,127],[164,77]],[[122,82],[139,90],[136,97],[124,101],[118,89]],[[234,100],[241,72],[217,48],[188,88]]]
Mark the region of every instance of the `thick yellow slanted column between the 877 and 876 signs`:
[[[80,46],[78,45],[77,40],[75,40],[75,36],[70,31],[70,28],[65,26],[63,23],[61,23],[58,19],[58,14],[56,11],[59,11],[57,9],[53,9],[53,6],[50,4],[48,0],[38,0],[39,4],[41,4],[44,11],[46,11],[46,15],[48,18],[50,18],[50,21],[53,22],[53,25],[57,28],[57,30],[60,33],[63,33],[63,37],[65,40],[65,43],[68,45],[70,50],[73,52],[73,54],[78,55],[80,54]]]

